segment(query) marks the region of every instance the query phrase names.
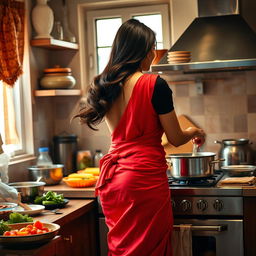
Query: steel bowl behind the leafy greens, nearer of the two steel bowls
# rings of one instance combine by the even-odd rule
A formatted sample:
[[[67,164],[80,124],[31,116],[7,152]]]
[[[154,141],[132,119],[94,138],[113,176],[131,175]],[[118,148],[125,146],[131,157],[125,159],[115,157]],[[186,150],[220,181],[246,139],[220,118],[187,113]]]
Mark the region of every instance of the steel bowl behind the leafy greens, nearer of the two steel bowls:
[[[23,181],[9,183],[8,185],[20,192],[23,203],[34,203],[37,196],[43,195],[45,182]]]

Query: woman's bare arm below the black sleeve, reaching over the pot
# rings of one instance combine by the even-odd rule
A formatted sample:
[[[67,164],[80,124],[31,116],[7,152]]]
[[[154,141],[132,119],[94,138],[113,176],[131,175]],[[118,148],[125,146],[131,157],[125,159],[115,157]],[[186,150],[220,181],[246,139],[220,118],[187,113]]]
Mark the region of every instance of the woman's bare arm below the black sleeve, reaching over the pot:
[[[181,129],[175,110],[159,115],[159,119],[169,143],[175,147],[183,145],[195,137],[200,137],[202,142],[204,141],[205,133],[203,129],[195,127]]]

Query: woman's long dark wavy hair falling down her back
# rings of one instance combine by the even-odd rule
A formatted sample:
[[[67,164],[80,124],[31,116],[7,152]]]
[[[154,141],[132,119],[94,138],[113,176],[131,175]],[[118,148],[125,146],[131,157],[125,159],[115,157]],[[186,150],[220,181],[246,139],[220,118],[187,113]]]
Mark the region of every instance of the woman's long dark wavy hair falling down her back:
[[[75,117],[97,130],[94,126],[102,121],[120,95],[125,80],[140,68],[155,41],[155,33],[138,20],[123,23],[115,36],[107,66],[94,78],[86,106]]]

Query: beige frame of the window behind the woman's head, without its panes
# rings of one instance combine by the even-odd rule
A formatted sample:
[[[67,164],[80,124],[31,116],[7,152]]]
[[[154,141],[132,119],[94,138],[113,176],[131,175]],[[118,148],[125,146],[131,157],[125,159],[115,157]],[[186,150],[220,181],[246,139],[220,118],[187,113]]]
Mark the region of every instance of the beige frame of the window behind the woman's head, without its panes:
[[[168,4],[146,5],[137,7],[120,7],[104,10],[90,10],[86,12],[87,23],[87,56],[89,60],[88,76],[89,81],[97,74],[97,55],[96,55],[96,31],[95,21],[104,18],[121,18],[122,22],[130,19],[132,16],[158,14],[162,15],[163,26],[163,48],[170,47],[170,19]]]

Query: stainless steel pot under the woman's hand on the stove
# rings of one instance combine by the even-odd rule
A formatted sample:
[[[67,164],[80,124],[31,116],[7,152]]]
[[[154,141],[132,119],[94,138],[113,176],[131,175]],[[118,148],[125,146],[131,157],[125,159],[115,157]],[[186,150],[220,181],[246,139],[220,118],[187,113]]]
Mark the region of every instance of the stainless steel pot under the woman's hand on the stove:
[[[167,156],[167,162],[171,165],[171,175],[178,180],[198,179],[210,177],[214,174],[214,164],[224,159],[214,160],[215,153],[198,152],[171,154]]]

